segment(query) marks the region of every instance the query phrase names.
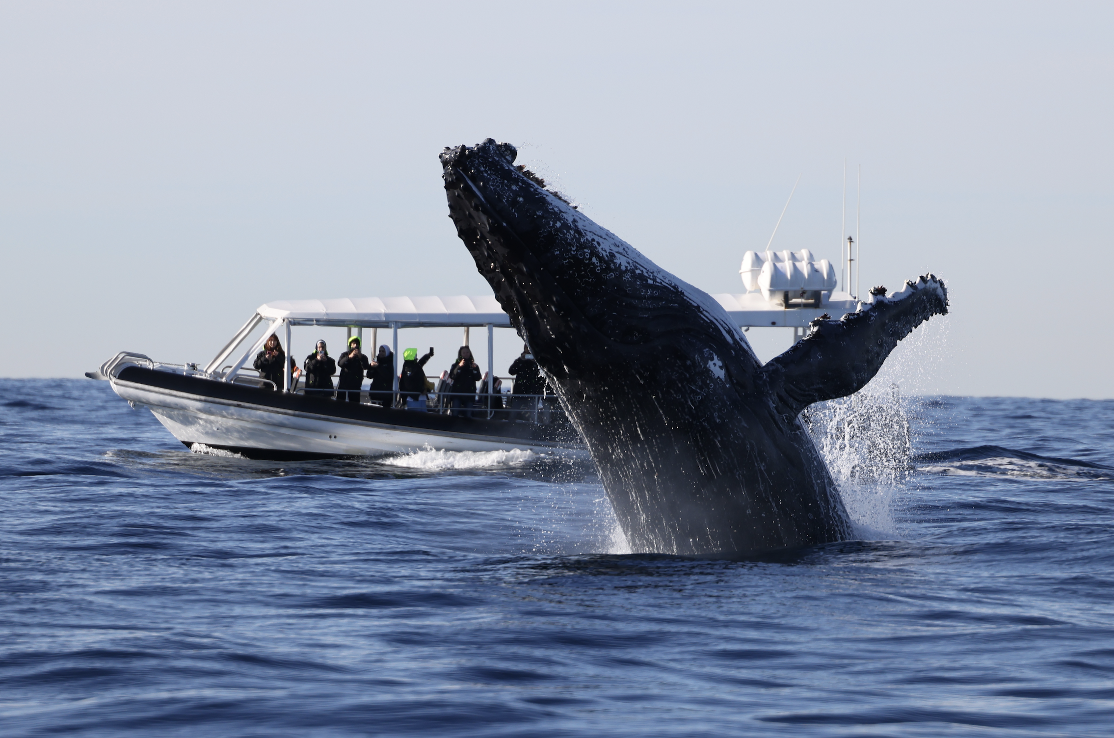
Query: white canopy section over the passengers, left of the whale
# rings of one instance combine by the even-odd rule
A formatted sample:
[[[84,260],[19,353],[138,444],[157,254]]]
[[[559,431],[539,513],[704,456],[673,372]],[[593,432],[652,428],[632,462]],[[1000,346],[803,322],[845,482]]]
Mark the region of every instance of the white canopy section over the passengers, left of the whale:
[[[399,323],[404,324],[399,327],[510,326],[510,318],[494,295],[287,299],[267,303],[256,312],[268,321],[287,319],[293,325],[390,327],[392,323]]]

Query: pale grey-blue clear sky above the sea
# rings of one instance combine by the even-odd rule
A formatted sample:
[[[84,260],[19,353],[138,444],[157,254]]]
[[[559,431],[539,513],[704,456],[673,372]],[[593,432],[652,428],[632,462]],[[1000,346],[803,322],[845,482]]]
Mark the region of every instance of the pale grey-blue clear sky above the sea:
[[[743,292],[798,177],[773,248],[837,260],[861,168],[863,292],[932,272],[951,299],[896,381],[1114,397],[1112,28],[1076,2],[0,2],[0,376],[207,363],[271,301],[490,294],[437,156],[492,137],[710,293]]]

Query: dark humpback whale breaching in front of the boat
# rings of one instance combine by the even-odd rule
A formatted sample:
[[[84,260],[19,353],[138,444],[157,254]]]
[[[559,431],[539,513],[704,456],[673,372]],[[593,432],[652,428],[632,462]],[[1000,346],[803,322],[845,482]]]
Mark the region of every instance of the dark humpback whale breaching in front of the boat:
[[[594,223],[487,139],[446,148],[449,217],[587,443],[632,550],[739,555],[847,540],[799,419],[870,381],[947,313],[931,274],[817,319],[763,365],[710,295]]]

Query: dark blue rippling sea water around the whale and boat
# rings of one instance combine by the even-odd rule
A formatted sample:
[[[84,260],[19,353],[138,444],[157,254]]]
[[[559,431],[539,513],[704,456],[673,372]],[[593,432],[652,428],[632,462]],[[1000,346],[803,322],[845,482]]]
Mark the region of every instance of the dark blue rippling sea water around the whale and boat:
[[[192,454],[0,381],[0,734],[1112,735],[1114,402],[908,407],[876,540],[688,561],[590,465]]]

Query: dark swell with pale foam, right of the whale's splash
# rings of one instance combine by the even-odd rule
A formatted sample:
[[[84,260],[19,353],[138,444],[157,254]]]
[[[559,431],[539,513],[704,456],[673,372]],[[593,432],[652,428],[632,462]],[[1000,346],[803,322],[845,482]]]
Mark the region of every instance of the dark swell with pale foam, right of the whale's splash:
[[[912,457],[918,471],[960,476],[1027,479],[1114,479],[1114,468],[1082,459],[1062,459],[997,445],[930,451]]]

